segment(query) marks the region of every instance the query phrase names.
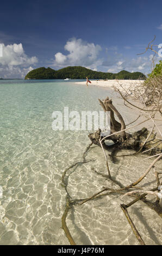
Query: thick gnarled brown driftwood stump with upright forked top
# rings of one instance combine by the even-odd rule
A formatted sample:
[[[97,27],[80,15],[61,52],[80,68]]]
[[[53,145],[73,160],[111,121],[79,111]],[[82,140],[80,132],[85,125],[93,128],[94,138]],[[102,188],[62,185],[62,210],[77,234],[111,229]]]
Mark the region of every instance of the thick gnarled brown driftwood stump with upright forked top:
[[[89,134],[92,143],[101,147],[102,142],[102,147],[105,150],[134,149],[136,153],[147,150],[147,154],[160,154],[162,152],[162,141],[155,138],[156,135],[153,129],[149,132],[144,127],[133,134],[127,133],[126,130],[130,129],[130,127],[126,129],[124,120],[119,111],[114,107],[112,100],[109,100],[109,97],[107,97],[103,101],[99,100],[99,103],[105,112],[110,112],[110,135],[108,137],[102,137],[102,131],[98,129],[95,133]],[[117,115],[120,123],[115,119],[114,114]],[[104,141],[106,139],[113,141],[114,144],[111,146],[105,144]]]

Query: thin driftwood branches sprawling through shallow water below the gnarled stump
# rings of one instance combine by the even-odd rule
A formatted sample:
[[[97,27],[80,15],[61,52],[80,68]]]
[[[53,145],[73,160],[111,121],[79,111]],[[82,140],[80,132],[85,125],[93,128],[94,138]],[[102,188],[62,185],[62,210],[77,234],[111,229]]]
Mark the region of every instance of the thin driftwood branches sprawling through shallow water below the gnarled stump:
[[[66,177],[66,175],[67,175],[68,170],[70,170],[70,169],[73,168],[74,166],[77,166],[78,164],[83,164],[83,163],[88,163],[88,162],[89,162],[89,161],[87,161],[87,160],[85,159],[85,157],[86,157],[86,153],[87,153],[88,150],[90,149],[91,145],[92,145],[92,143],[86,148],[85,152],[83,153],[83,162],[76,162],[76,163],[72,164],[70,167],[66,168],[65,171],[64,171],[64,173],[63,173],[62,179],[61,179],[61,184],[65,187],[65,191],[66,191],[66,206],[65,206],[65,211],[64,211],[64,214],[63,214],[63,216],[62,216],[62,218],[61,218],[61,221],[62,221],[62,228],[63,228],[64,231],[65,231],[65,235],[66,235],[68,241],[70,242],[71,245],[76,245],[76,243],[74,242],[73,237],[72,237],[72,235],[71,235],[71,233],[70,233],[70,230],[68,229],[68,227],[67,227],[67,225],[66,225],[66,217],[67,217],[67,215],[68,215],[68,211],[69,211],[69,210],[72,210],[72,207],[71,207],[72,205],[73,205],[73,206],[74,206],[74,205],[82,205],[82,204],[84,204],[84,203],[87,203],[89,200],[95,200],[95,199],[98,199],[98,198],[101,198],[101,197],[104,197],[104,196],[108,196],[108,195],[113,194],[113,193],[120,193],[120,194],[123,194],[123,195],[125,195],[125,194],[127,193],[129,197],[135,197],[135,199],[134,199],[132,202],[130,202],[129,204],[127,204],[127,205],[126,205],[126,204],[121,204],[121,209],[123,210],[124,215],[126,216],[128,222],[129,222],[129,224],[130,224],[130,227],[132,228],[133,233],[135,234],[135,236],[136,236],[136,238],[138,239],[139,243],[140,243],[141,245],[145,245],[145,242],[142,240],[141,235],[139,234],[139,232],[138,232],[138,230],[136,229],[136,227],[135,227],[135,225],[134,225],[132,219],[130,218],[130,216],[129,216],[129,214],[128,214],[127,208],[129,208],[129,206],[131,206],[131,205],[135,204],[136,202],[138,202],[139,200],[141,200],[141,201],[144,202],[149,208],[151,208],[152,210],[154,210],[155,212],[157,212],[157,214],[158,214],[160,217],[162,217],[162,207],[161,207],[160,204],[159,204],[159,200],[156,200],[156,202],[153,202],[153,203],[150,202],[150,201],[148,201],[148,200],[146,200],[146,196],[147,196],[147,194],[148,194],[148,193],[147,193],[148,191],[147,191],[146,193],[145,193],[144,191],[140,191],[140,193],[142,192],[143,194],[141,194],[141,196],[139,196],[139,195],[138,195],[139,193],[137,193],[136,195],[134,195],[134,192],[135,192],[135,191],[132,191],[132,193],[130,193],[130,192],[131,192],[130,189],[132,189],[132,188],[135,188],[135,189],[136,189],[136,188],[139,188],[139,187],[137,187],[136,185],[139,184],[139,182],[141,182],[141,180],[146,177],[146,175],[147,175],[148,172],[151,170],[151,168],[153,168],[154,173],[155,173],[155,176],[156,176],[156,179],[157,179],[157,187],[153,188],[153,189],[150,190],[150,191],[153,191],[153,192],[154,192],[154,191],[158,191],[158,189],[159,189],[158,187],[159,187],[159,185],[161,185],[161,184],[160,184],[160,179],[159,179],[159,176],[158,176],[158,175],[159,175],[159,174],[162,174],[162,173],[161,173],[161,172],[158,173],[158,172],[155,171],[154,164],[162,158],[162,154],[159,155],[159,156],[157,157],[157,159],[155,159],[155,160],[153,161],[153,163],[148,167],[148,169],[146,170],[146,172],[145,172],[143,175],[141,175],[141,177],[140,177],[137,181],[133,182],[132,184],[130,184],[130,185],[124,187],[123,185],[118,184],[116,180],[111,179],[115,184],[117,184],[117,185],[120,187],[120,189],[115,189],[115,190],[114,190],[114,188],[103,187],[101,191],[95,193],[94,195],[92,195],[92,196],[89,197],[89,198],[72,199],[72,197],[70,196],[70,194],[68,194],[68,192],[67,192],[67,185],[68,185],[68,184],[67,184],[67,181],[65,181],[65,177]],[[109,179],[110,179],[110,177],[109,177]],[[141,188],[141,189],[142,189],[142,188]],[[108,191],[108,192],[103,194],[103,192],[105,192],[105,191]],[[157,193],[156,193],[156,194],[157,194]]]

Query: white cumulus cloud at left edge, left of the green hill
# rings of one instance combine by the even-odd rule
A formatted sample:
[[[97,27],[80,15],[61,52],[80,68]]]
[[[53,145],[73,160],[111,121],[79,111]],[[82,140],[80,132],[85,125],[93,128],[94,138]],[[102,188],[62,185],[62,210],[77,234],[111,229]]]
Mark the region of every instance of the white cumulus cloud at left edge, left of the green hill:
[[[1,77],[24,77],[33,68],[30,65],[38,63],[38,58],[28,57],[24,52],[22,44],[4,45],[2,57],[0,57]]]

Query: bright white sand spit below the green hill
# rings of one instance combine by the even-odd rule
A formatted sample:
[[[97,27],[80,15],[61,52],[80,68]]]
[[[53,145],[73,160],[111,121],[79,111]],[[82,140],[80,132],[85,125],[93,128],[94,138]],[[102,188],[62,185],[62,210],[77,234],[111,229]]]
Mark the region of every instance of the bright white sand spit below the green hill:
[[[144,80],[108,80],[108,81],[104,81],[104,80],[93,81],[92,80],[91,83],[88,83],[88,86],[101,86],[101,87],[111,87],[111,88],[113,88],[113,86],[115,86],[115,87],[119,88],[121,85],[124,89],[128,89],[130,86],[131,87],[139,86],[143,82],[144,82]],[[86,81],[85,82],[76,82],[76,84],[86,85]],[[120,89],[121,89],[121,87],[120,87]]]

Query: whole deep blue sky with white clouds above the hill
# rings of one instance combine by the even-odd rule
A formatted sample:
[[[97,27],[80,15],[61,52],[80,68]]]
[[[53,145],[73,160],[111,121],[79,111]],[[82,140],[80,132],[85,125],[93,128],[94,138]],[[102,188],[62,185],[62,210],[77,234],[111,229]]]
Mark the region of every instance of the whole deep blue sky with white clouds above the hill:
[[[145,51],[154,35],[153,44],[162,44],[161,10],[161,0],[3,1],[0,77],[24,78],[41,66],[147,75],[154,52],[137,54]],[[155,63],[162,60],[160,55]]]

